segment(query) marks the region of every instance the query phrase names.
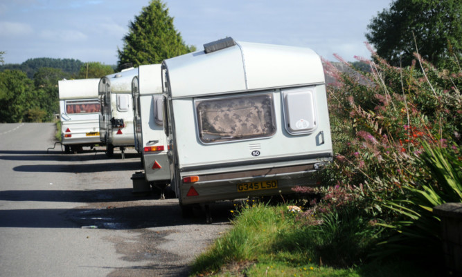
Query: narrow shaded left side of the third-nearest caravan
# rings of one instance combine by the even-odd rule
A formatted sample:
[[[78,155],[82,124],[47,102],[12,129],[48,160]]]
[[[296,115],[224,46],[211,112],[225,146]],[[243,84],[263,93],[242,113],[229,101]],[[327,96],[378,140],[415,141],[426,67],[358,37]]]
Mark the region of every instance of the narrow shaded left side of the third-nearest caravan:
[[[110,125],[110,116],[111,116],[111,94],[110,94],[111,84],[107,77],[100,79],[100,84],[98,88],[98,98],[101,104],[100,112],[100,142],[107,144],[109,142],[109,135],[111,135],[111,125]]]

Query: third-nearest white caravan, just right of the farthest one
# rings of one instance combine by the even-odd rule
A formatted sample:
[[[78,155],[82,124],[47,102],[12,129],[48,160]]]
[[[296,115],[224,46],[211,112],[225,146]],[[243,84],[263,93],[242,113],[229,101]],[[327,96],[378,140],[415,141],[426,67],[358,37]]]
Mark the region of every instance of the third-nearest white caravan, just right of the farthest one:
[[[134,146],[132,79],[137,74],[138,68],[127,68],[100,79],[100,141],[106,145],[108,157],[114,155],[114,147],[119,147],[124,157],[125,147]]]

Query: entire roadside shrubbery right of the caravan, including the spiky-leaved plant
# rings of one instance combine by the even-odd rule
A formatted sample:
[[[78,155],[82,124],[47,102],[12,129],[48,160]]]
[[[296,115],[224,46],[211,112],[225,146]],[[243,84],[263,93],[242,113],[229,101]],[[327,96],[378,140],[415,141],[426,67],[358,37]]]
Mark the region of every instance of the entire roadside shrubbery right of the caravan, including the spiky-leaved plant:
[[[418,53],[411,66],[398,68],[368,48],[374,60],[357,59],[370,71],[337,56],[350,68],[341,73],[324,61],[326,74],[336,79],[328,86],[335,160],[321,175],[324,187],[294,190],[317,195],[307,201],[308,224],[330,222],[339,210],[356,209],[363,222],[380,222],[374,225],[377,234],[389,227],[380,233],[386,241],[380,246],[387,244],[382,254],[401,246],[428,256],[433,249],[417,246],[434,238],[434,246],[438,243],[438,219],[431,211],[450,191],[438,180],[449,173],[433,170],[435,160],[428,162],[429,157],[451,160],[452,170],[461,171],[462,70],[455,55],[445,63],[449,69],[435,68]],[[458,191],[460,186],[452,187],[452,194]],[[436,196],[438,201],[430,201]],[[345,228],[350,227],[355,233],[354,226]],[[411,242],[414,238],[420,242]]]

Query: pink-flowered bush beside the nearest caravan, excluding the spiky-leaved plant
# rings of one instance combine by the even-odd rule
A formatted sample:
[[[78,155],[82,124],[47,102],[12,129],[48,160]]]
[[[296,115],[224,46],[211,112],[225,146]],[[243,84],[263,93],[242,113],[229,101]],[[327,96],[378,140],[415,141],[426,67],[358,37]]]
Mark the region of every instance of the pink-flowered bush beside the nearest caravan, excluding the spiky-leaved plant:
[[[383,211],[380,203],[407,195],[403,188],[418,187],[416,178],[432,178],[416,160],[422,142],[430,148],[461,144],[462,70],[435,68],[419,55],[412,66],[396,68],[372,53],[374,61],[357,57],[370,72],[338,56],[353,74],[325,61],[326,74],[337,79],[328,86],[336,156],[323,180],[354,195],[345,204],[387,219],[394,213]]]

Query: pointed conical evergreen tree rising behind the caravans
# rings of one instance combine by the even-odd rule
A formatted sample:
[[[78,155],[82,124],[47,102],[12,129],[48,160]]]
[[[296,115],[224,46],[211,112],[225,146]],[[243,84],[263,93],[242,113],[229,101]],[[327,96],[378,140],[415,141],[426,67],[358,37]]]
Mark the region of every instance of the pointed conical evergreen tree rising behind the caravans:
[[[195,51],[194,46],[184,44],[166,4],[160,0],[151,0],[128,27],[129,32],[123,37],[123,50],[117,50],[118,70],[123,64],[160,64],[163,59]]]

